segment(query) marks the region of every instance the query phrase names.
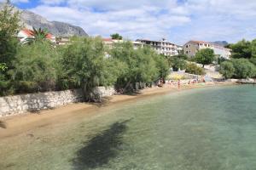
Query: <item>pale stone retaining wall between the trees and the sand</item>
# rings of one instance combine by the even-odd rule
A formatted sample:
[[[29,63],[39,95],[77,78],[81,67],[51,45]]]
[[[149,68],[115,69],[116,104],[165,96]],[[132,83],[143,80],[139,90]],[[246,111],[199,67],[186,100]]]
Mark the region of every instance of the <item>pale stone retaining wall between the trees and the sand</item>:
[[[95,93],[105,97],[115,94],[115,90],[114,88],[98,87]],[[0,98],[0,116],[51,109],[82,100],[83,93],[81,89],[7,96]]]

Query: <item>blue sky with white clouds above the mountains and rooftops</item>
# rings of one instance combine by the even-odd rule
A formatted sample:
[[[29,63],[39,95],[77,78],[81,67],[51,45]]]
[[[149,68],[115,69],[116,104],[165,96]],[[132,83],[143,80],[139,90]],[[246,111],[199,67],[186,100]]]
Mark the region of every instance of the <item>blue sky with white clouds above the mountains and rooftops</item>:
[[[3,0],[0,0],[3,1]],[[189,40],[256,38],[256,0],[13,0],[16,6],[81,26],[90,36],[118,32],[182,45]]]

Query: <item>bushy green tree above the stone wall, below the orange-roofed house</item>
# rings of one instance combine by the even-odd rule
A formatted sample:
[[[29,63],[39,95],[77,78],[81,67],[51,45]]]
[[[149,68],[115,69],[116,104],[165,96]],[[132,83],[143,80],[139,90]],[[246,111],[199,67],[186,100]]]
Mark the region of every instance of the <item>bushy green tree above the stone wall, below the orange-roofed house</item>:
[[[15,93],[55,90],[58,55],[49,42],[20,46],[9,71]]]

